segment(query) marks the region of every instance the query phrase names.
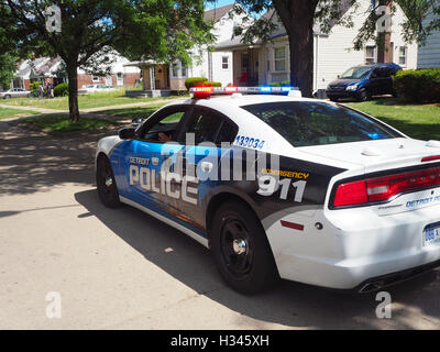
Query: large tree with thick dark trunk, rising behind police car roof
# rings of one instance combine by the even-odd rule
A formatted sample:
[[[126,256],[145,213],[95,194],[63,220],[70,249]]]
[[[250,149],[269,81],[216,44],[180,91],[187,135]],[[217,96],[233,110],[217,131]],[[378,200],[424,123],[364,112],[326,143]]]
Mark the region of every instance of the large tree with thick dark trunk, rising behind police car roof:
[[[319,24],[322,32],[329,32],[331,25],[334,24],[352,26],[352,13],[343,14],[348,8],[355,9],[361,1],[365,0],[237,0],[249,13],[275,9],[286,29],[290,46],[290,82],[299,87],[306,97],[312,94],[314,25]],[[377,35],[376,24],[382,14],[377,14],[376,10],[380,6],[392,8],[389,2],[392,1],[372,1],[371,15],[367,16],[356,36],[354,48],[361,50],[363,44],[371,38],[374,38],[378,45],[385,45],[386,32]],[[424,42],[432,30],[440,28],[439,0],[394,0],[394,2],[402,7],[408,18],[403,24],[407,42]],[[235,7],[235,12],[242,13],[243,9]],[[422,21],[428,12],[436,14],[435,20],[424,28]],[[235,31],[235,34],[243,34],[243,42],[253,43],[257,38],[263,42],[270,41],[270,31],[274,30],[270,19],[261,18],[254,22],[246,21],[246,28],[239,28]]]

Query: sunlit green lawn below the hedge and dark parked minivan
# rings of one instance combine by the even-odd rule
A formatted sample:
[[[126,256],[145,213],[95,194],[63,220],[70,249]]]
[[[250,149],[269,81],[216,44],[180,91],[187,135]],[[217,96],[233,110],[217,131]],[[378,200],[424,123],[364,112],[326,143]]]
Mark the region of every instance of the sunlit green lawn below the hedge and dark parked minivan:
[[[406,105],[402,99],[376,99],[348,106],[419,140],[440,140],[440,105]]]

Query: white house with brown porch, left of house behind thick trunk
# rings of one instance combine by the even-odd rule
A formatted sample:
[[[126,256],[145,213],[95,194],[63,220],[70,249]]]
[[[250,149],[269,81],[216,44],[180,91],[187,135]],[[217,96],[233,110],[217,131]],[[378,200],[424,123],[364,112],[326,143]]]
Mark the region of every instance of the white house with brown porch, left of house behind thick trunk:
[[[216,43],[230,40],[233,34],[233,28],[241,23],[244,16],[230,12],[234,4],[207,10],[205,19],[213,22],[213,34],[217,37]],[[221,82],[222,86],[232,84],[232,52],[216,51],[209,52],[206,46],[197,47],[193,51],[195,61],[193,65],[185,66],[180,61],[168,64],[155,63],[153,61],[139,61],[125,64],[125,67],[140,67],[144,82],[144,90],[162,90],[163,94],[169,94],[172,90],[186,90],[185,80],[189,77],[206,77],[209,81]]]

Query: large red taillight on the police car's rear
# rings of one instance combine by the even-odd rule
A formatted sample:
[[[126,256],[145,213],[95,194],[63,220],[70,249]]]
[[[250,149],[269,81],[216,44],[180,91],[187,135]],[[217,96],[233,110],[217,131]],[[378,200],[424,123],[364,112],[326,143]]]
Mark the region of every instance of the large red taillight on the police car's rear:
[[[366,178],[339,185],[333,206],[338,208],[387,201],[403,193],[438,186],[440,186],[440,167]]]

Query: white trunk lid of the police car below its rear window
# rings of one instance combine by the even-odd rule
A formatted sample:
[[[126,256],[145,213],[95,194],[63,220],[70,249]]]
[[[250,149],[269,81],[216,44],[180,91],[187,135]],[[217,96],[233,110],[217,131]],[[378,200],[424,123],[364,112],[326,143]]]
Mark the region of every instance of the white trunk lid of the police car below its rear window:
[[[433,143],[432,145],[440,145]],[[440,155],[440,147],[413,139],[375,140],[298,147],[302,153],[364,168],[365,173],[420,165],[426,156]]]

